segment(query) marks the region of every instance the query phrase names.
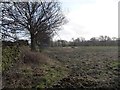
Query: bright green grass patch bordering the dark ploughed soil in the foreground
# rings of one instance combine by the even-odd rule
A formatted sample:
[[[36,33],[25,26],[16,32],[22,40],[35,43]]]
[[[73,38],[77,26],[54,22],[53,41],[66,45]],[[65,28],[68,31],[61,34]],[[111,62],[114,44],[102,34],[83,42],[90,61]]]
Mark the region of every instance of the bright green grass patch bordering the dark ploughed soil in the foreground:
[[[37,88],[50,87],[57,81],[68,75],[68,71],[64,67],[55,67],[44,65],[43,70],[46,71],[44,76],[41,78],[41,82],[37,85]]]

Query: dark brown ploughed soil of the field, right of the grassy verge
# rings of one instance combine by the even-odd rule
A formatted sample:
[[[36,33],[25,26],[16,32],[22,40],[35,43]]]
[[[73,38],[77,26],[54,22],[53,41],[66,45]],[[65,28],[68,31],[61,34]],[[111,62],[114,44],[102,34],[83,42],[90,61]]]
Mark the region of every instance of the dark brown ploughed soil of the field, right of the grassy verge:
[[[61,62],[69,74],[52,87],[118,88],[118,47],[80,46],[51,47],[44,50],[50,58]]]

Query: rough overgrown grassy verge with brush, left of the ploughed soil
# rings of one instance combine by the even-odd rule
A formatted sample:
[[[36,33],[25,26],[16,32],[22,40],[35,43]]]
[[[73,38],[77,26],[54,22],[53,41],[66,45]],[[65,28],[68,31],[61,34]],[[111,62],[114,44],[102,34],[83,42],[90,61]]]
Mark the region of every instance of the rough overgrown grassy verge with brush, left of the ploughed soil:
[[[3,49],[3,87],[5,88],[45,88],[52,86],[57,80],[68,74],[67,68],[59,61],[42,53],[30,52],[28,47],[6,47]],[[27,50],[25,50],[27,49]],[[24,54],[25,53],[25,54]],[[26,55],[24,58],[22,56]],[[35,59],[38,57],[37,59]],[[16,59],[15,59],[16,58]],[[38,60],[39,59],[39,60]],[[35,61],[39,61],[35,63]]]

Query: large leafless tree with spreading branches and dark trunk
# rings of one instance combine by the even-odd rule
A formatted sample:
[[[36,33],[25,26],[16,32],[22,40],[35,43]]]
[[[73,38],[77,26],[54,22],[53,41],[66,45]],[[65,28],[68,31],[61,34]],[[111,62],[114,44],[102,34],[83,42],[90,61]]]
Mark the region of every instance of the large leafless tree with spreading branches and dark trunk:
[[[7,33],[13,31],[29,35],[31,50],[35,51],[35,46],[51,38],[66,19],[60,2],[12,2],[4,7],[2,22],[3,31]]]

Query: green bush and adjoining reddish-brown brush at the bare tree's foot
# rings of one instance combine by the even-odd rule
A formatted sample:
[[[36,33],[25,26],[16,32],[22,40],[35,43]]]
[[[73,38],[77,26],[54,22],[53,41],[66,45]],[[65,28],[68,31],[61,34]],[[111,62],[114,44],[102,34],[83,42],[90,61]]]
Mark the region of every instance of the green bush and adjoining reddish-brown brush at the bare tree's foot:
[[[7,46],[2,50],[2,70],[9,70],[14,65],[45,63],[48,58],[39,52],[32,52],[29,47]]]

